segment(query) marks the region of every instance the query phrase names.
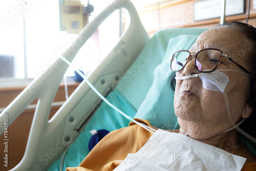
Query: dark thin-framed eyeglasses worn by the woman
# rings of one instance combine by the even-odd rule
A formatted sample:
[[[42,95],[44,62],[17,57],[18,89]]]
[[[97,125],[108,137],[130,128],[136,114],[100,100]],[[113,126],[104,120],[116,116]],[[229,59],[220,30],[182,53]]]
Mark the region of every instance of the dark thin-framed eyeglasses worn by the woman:
[[[251,74],[249,71],[247,71],[244,67],[239,65],[238,62],[234,61],[232,58],[228,57],[226,54],[223,54],[221,50],[214,49],[214,48],[208,48],[203,49],[199,52],[190,53],[187,50],[180,50],[175,52],[175,54],[172,57],[172,60],[170,61],[170,69],[174,72],[179,72],[184,69],[184,67],[187,65],[189,60],[192,60],[194,58],[191,58],[191,55],[195,56],[195,66],[198,72],[202,73],[209,73],[212,71],[215,71],[222,60],[222,56],[225,56],[228,60],[233,62],[235,65],[237,65],[239,68],[244,70],[246,73]]]

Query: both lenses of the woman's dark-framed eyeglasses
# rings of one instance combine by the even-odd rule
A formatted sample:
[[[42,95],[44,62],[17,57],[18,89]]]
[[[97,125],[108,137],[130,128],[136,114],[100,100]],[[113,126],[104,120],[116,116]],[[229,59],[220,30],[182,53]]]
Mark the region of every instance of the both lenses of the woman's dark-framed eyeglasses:
[[[173,71],[180,71],[185,66],[188,57],[188,51],[178,51],[173,55],[173,60],[171,62],[171,69]],[[190,60],[193,59],[192,56]],[[197,53],[196,55],[196,68],[198,71],[213,71],[218,66],[221,59],[221,51],[216,49],[204,49]]]

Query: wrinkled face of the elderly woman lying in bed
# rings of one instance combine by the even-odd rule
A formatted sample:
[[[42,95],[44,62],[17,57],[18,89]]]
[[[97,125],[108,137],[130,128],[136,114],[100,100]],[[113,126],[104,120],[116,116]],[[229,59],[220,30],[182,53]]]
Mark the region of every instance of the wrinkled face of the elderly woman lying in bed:
[[[206,48],[220,49],[248,69],[245,57],[250,47],[248,40],[236,30],[214,28],[202,33],[189,51],[197,53]],[[176,76],[199,73],[194,60],[187,63],[182,71],[176,73]],[[221,69],[243,71],[225,57],[218,67],[218,70]],[[246,103],[249,77],[236,72],[224,73],[229,77],[225,92],[229,100],[231,116],[234,123],[238,123],[242,117],[249,117],[251,113]],[[222,92],[204,89],[199,77],[176,80],[174,107],[181,130],[195,139],[209,139],[232,127]]]

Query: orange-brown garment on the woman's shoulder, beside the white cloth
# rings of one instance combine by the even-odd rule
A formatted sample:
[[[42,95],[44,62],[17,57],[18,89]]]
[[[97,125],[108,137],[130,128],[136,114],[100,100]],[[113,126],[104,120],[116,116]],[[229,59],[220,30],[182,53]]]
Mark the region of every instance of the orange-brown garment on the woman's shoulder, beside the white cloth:
[[[151,126],[147,120],[136,120]],[[78,167],[68,167],[67,171],[113,170],[127,157],[127,154],[139,151],[151,136],[152,133],[130,122],[128,127],[113,131],[104,137]],[[242,170],[256,170],[256,163],[245,164]]]

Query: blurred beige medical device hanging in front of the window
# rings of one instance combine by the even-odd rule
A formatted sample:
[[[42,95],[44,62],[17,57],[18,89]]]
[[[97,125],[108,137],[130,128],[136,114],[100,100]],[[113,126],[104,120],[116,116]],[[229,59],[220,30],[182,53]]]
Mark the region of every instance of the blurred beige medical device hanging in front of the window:
[[[78,34],[88,23],[94,7],[87,1],[87,6],[81,1],[59,0],[59,27],[60,31]]]

